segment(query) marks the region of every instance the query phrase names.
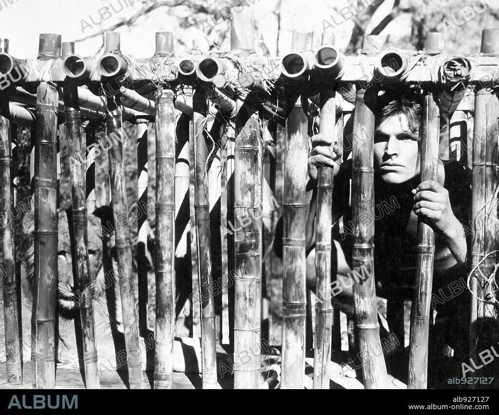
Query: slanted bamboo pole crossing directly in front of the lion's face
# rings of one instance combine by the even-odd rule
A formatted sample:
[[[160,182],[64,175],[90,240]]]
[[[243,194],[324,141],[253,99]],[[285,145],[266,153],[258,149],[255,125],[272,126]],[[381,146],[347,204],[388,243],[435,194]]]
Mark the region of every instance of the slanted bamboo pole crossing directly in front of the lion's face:
[[[81,139],[81,120],[78,105],[78,89],[71,81],[64,88],[66,106],[66,136],[69,154],[84,151]],[[80,310],[81,335],[83,346],[83,365],[86,389],[99,389],[97,345],[95,340],[95,321],[90,292],[90,262],[88,259],[87,209],[85,198],[86,166],[70,163],[72,219],[74,234],[75,280],[77,306]]]

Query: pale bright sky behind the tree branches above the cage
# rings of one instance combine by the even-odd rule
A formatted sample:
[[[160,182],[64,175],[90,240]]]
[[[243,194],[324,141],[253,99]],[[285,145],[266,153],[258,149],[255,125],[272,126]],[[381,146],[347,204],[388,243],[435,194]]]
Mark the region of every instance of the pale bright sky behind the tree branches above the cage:
[[[272,11],[275,8],[275,1],[253,1],[255,19],[259,23],[267,46],[274,54],[277,23]],[[216,4],[216,0],[209,2]],[[348,0],[282,0],[279,36],[281,52],[290,46],[293,29],[315,30],[314,43],[318,46],[320,42],[318,33],[323,30],[323,20],[330,21],[333,5],[341,7],[345,4],[348,4]],[[383,6],[389,10],[392,4],[393,0],[389,0]],[[105,10],[102,11],[104,21],[99,15],[99,9],[102,7],[108,7],[110,11],[109,14],[106,14]],[[0,0],[0,37],[10,40],[10,53],[13,56],[35,58],[40,33],[58,33],[62,35],[62,41],[74,41],[96,33],[101,28],[109,28],[112,24],[130,17],[139,8],[139,0]],[[383,13],[384,10],[381,8],[378,12]],[[135,57],[150,57],[154,54],[156,31],[173,31],[175,36],[181,37],[189,47],[193,38],[203,36],[202,27],[191,26],[187,30],[179,28],[177,15],[179,13],[189,15],[187,8],[177,7],[175,9],[177,15],[168,11],[168,7],[160,7],[147,18],[139,17],[132,29],[118,29],[121,32],[121,49]],[[383,14],[380,19],[382,17]],[[82,20],[84,20],[84,32],[82,32]],[[353,20],[347,19],[334,30],[336,44],[340,48],[348,43],[352,26]],[[100,37],[78,42],[75,52],[83,56],[95,54],[101,42]]]

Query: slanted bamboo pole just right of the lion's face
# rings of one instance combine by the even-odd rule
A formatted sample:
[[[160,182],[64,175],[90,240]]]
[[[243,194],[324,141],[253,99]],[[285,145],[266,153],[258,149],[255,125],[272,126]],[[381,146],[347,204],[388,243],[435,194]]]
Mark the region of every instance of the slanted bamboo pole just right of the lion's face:
[[[120,50],[119,33],[107,32],[105,40],[106,52]],[[130,245],[130,230],[128,228],[129,216],[126,197],[126,177],[123,164],[121,96],[120,94],[114,95],[111,92],[119,90],[116,82],[116,79],[110,78],[106,82],[107,85],[105,85],[107,98],[107,134],[118,137],[117,142],[108,151],[111,201],[114,215],[114,239],[130,389],[142,389],[142,359],[140,356],[137,305],[132,278],[132,249]]]

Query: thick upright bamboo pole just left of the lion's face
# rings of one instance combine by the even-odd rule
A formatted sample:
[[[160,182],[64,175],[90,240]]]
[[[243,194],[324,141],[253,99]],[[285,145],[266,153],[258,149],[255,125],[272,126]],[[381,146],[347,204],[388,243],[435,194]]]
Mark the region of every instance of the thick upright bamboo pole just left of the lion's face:
[[[38,58],[58,57],[61,36],[41,34]],[[42,81],[36,96],[34,137],[34,282],[31,315],[33,389],[55,387],[57,309],[57,86]]]

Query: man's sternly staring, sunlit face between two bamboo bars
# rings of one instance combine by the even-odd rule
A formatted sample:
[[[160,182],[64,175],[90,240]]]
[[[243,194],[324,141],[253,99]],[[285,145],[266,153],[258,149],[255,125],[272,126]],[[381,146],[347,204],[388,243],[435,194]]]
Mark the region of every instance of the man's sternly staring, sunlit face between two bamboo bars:
[[[419,175],[419,129],[412,132],[407,117],[384,118],[374,131],[374,168],[387,184],[399,184]]]

